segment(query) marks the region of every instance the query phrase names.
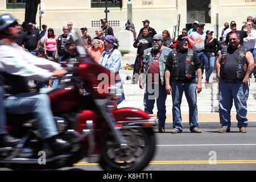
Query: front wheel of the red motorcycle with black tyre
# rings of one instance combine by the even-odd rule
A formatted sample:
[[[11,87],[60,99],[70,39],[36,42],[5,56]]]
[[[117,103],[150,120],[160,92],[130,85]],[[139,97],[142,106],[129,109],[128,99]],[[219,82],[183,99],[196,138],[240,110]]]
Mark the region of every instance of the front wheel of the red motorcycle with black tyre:
[[[109,132],[101,145],[100,166],[106,171],[140,171],[155,153],[152,128],[121,129],[128,147],[123,149]]]

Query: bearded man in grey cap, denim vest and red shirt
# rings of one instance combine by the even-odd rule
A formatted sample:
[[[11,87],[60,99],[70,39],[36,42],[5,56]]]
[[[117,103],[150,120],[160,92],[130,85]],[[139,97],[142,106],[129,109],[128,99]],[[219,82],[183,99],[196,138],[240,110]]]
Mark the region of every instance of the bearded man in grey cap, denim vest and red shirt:
[[[162,34],[153,37],[152,48],[144,50],[141,65],[141,77],[139,87],[143,89],[146,82],[144,93],[144,111],[153,114],[155,99],[158,107],[158,132],[164,133],[166,122],[166,97],[164,89],[164,69],[166,60],[172,49],[163,46]]]

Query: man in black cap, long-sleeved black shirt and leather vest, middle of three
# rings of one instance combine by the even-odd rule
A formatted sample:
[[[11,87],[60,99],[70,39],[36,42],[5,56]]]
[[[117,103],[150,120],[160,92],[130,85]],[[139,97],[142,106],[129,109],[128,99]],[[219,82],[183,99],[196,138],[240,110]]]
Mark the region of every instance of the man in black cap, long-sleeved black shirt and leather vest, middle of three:
[[[181,121],[181,100],[183,92],[187,98],[189,106],[189,130],[193,133],[201,133],[197,122],[197,93],[202,90],[201,80],[201,62],[196,51],[188,48],[188,38],[185,35],[179,35],[177,49],[174,49],[166,61],[166,71],[164,77],[166,80],[166,92],[172,94],[172,118],[173,127],[171,133],[181,133],[183,125]],[[198,81],[196,82],[196,72]]]

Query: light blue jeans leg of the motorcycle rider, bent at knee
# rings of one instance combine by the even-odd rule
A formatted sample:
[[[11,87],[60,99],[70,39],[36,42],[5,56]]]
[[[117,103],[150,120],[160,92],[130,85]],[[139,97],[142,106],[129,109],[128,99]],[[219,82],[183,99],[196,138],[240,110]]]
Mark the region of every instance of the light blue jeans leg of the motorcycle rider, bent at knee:
[[[57,135],[57,128],[53,120],[51,103],[47,94],[19,93],[9,96],[4,101],[5,109],[10,114],[33,113],[36,126],[43,139]]]

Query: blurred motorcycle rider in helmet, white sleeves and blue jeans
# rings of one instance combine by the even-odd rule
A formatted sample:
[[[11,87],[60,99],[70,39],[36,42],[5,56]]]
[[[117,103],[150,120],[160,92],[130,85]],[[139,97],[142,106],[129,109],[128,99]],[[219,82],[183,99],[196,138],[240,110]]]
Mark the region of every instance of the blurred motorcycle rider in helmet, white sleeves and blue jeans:
[[[17,25],[16,19],[10,14],[0,15],[0,84],[9,95],[1,105],[10,114],[33,113],[42,139],[52,151],[57,153],[68,150],[70,145],[67,142],[57,140],[58,133],[49,97],[46,94],[31,93],[28,89],[28,80],[44,81],[52,76],[62,77],[67,72],[59,64],[31,55],[12,44],[19,36]],[[6,120],[0,120],[0,145],[6,147],[16,140],[3,129],[5,125]]]

